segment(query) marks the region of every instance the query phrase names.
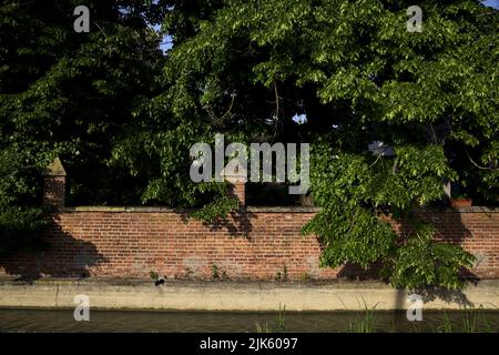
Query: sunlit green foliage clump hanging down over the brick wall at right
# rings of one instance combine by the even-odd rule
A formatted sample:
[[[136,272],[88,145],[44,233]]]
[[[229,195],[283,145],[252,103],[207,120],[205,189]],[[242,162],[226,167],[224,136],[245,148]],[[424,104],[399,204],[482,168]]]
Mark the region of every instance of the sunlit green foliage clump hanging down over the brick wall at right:
[[[471,254],[435,242],[431,226],[410,217],[415,207],[438,200],[442,179],[455,175],[441,148],[401,146],[395,158],[317,151],[310,180],[323,210],[303,232],[324,242],[322,265],[381,263],[383,276],[397,287],[464,286],[459,272],[472,265]],[[387,211],[413,224],[404,241],[380,219]]]

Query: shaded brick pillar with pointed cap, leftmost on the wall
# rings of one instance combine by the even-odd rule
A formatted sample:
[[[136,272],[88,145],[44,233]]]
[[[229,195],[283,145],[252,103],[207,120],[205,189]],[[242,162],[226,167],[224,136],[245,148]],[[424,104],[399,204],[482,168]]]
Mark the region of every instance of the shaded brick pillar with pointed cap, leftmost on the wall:
[[[55,209],[65,205],[65,170],[59,158],[43,172],[43,204]]]

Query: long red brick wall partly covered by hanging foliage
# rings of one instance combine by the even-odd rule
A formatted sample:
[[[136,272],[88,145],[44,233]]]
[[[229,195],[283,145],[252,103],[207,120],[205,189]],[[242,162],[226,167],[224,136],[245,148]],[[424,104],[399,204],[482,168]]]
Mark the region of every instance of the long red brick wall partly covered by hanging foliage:
[[[160,209],[65,209],[50,216],[48,251],[0,260],[0,273],[48,276],[273,280],[335,278],[346,267],[319,268],[320,248],[301,227],[313,210],[248,209],[217,225]],[[473,272],[499,278],[499,211],[426,212],[438,237],[478,256]],[[404,226],[397,226],[404,229]]]

